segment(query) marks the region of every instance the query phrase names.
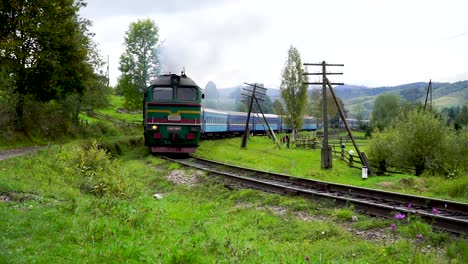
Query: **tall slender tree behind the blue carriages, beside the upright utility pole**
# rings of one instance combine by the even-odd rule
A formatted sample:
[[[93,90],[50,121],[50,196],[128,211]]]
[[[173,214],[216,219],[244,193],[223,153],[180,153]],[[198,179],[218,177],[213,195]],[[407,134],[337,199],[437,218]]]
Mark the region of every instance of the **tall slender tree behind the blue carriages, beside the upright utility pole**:
[[[302,61],[299,51],[291,46],[288,58],[281,74],[281,97],[286,106],[286,122],[297,132],[303,125],[303,115],[307,104],[308,78],[302,73]]]

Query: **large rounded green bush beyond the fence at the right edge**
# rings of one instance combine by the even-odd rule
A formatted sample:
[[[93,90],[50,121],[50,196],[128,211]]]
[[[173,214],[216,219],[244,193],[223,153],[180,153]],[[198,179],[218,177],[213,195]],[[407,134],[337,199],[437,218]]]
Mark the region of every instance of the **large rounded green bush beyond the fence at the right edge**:
[[[455,134],[434,114],[415,109],[399,115],[393,128],[374,134],[369,158],[381,170],[391,163],[412,167],[416,175],[455,176],[467,168],[467,134],[466,130]]]

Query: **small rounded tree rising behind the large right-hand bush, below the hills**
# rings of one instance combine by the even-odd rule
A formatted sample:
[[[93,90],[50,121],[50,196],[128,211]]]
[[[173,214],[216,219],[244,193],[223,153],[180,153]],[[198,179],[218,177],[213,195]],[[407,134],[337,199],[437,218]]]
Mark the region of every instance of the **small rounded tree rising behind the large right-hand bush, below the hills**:
[[[400,114],[401,99],[393,94],[382,94],[375,99],[371,114],[371,124],[380,131],[389,126],[392,120]]]

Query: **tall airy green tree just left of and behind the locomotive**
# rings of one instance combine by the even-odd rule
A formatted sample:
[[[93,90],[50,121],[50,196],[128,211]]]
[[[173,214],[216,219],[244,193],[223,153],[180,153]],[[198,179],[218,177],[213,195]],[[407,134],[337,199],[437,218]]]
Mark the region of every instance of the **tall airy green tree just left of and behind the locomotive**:
[[[158,27],[150,19],[131,23],[126,32],[125,51],[119,62],[118,90],[123,92],[130,109],[141,107],[145,88],[159,73],[158,33]]]

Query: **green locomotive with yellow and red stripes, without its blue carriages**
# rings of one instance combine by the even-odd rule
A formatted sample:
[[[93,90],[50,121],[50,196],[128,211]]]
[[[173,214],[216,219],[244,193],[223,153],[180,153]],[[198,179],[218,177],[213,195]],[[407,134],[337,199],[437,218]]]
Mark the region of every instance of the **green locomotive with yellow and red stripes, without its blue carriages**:
[[[146,89],[145,145],[153,153],[193,153],[201,132],[200,87],[185,74],[161,75]]]

